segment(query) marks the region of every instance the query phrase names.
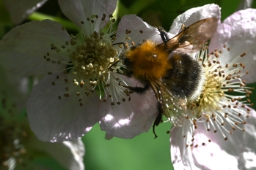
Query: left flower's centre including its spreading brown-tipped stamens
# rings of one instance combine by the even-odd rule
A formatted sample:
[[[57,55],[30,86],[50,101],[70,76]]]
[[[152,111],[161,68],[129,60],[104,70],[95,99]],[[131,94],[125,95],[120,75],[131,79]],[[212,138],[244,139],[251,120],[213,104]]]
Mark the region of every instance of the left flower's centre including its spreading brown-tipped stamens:
[[[50,53],[47,53],[44,58],[46,61],[52,61],[52,63],[65,67],[65,69],[56,71],[54,75],[56,80],[51,83],[51,85],[63,87],[63,93],[57,96],[59,100],[73,95],[78,98],[78,106],[83,106],[84,96],[89,96],[96,88],[100,93],[100,101],[111,98],[112,105],[120,104],[120,97],[124,101],[126,93],[113,94],[113,89],[118,88],[120,91],[122,87],[116,85],[119,78],[111,76],[110,67],[118,61],[120,54],[118,50],[122,50],[122,48],[112,45],[115,32],[111,32],[111,24],[114,23],[114,19],[111,15],[109,18],[111,22],[106,30],[98,28],[103,23],[101,21],[106,19],[106,15],[101,18],[101,23],[98,22],[98,15],[92,15],[86,21],[90,23],[89,31],[82,31],[79,37],[70,35],[71,39],[63,42],[65,45],[51,44],[51,50],[56,52],[54,53],[55,58]],[[84,21],[81,21],[81,24],[84,24]],[[65,31],[65,28],[62,28],[62,31]],[[90,32],[90,34],[85,34],[85,32]],[[53,72],[48,72],[48,74],[51,75]],[[105,97],[102,98],[101,94],[104,94]],[[126,98],[128,97],[126,95]]]

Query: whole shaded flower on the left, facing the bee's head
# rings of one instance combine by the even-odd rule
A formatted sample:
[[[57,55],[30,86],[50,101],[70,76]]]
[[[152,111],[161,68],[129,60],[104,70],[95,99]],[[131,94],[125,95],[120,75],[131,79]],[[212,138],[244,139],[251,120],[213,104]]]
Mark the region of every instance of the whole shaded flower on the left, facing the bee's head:
[[[120,25],[122,34],[115,38],[112,22],[105,27],[114,21],[111,14],[116,3],[59,0],[62,12],[81,28],[81,37],[70,36],[59,23],[43,20],[17,26],[1,40],[1,65],[7,70],[26,76],[48,73],[33,88],[27,104],[30,126],[40,140],[76,139],[99,121],[109,136],[132,138],[150,129],[156,117],[150,105],[153,93],[140,100],[138,94],[118,85],[120,81],[137,85],[134,80],[109,72],[122,50],[112,43],[122,43],[128,28],[128,24]]]

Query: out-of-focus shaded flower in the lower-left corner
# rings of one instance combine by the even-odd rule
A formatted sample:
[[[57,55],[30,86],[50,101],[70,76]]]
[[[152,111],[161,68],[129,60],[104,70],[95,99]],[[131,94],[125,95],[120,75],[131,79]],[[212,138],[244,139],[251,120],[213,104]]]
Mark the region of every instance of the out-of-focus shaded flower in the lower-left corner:
[[[56,144],[38,140],[23,114],[29,79],[5,72],[2,67],[0,71],[0,169],[46,168],[45,165],[31,163],[38,156],[35,151],[40,151],[67,169],[83,170],[84,144],[81,139]]]

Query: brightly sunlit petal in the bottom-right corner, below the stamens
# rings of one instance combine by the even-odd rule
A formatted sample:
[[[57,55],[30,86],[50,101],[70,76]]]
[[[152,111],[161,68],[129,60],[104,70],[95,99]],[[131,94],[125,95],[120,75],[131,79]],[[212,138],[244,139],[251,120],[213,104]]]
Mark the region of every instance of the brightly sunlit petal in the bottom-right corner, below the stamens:
[[[233,134],[227,134],[227,141],[219,131],[217,133],[207,131],[203,123],[197,123],[194,143],[197,143],[198,147],[186,148],[186,153],[192,152],[192,155],[189,156],[175,154],[177,150],[184,152],[182,145],[178,144],[183,142],[180,138],[181,135],[174,136],[172,134],[172,158],[178,155],[181,167],[193,164],[200,169],[256,169],[256,112],[251,110],[249,118],[246,119],[246,115],[243,115],[244,120],[246,119],[245,131],[237,129],[233,131]],[[172,133],[183,134],[183,131],[181,128],[178,131],[177,128]],[[211,139],[211,142],[208,142],[208,139]],[[204,146],[202,146],[202,142],[205,143]]]

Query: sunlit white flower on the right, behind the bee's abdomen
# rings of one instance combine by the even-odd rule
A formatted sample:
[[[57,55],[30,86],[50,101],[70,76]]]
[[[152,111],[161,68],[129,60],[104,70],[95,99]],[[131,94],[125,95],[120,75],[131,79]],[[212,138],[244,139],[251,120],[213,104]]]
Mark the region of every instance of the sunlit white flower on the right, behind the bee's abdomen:
[[[213,53],[200,55],[205,88],[183,127],[171,131],[175,169],[256,168],[256,112],[249,108],[252,92],[245,85],[256,80],[255,14],[245,9],[224,20],[211,39]]]

